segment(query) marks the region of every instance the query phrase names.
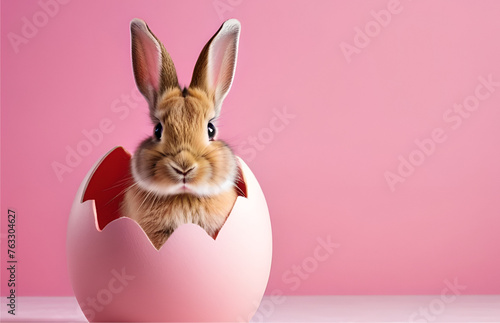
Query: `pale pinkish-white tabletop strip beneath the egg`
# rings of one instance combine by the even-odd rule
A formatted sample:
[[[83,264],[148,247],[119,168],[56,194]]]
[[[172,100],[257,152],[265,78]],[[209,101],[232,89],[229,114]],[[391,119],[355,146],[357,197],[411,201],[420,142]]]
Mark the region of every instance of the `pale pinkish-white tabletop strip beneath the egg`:
[[[1,301],[2,322],[86,322],[74,297]],[[254,322],[500,322],[500,295],[266,296]]]

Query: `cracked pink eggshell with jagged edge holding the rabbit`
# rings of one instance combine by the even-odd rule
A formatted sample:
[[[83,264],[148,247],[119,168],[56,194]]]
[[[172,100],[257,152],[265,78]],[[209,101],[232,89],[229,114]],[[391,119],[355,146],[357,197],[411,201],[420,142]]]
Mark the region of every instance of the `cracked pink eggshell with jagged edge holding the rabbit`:
[[[73,202],[66,242],[70,280],[89,321],[251,319],[267,286],[272,235],[262,190],[239,162],[247,197],[237,198],[217,238],[185,224],[160,250],[118,212],[115,196],[130,176],[130,154],[117,147],[89,171]]]

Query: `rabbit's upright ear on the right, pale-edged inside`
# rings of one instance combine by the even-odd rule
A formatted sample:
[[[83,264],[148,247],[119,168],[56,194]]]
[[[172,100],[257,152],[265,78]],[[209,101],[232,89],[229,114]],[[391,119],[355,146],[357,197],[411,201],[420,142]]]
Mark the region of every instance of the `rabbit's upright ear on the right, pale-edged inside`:
[[[190,87],[200,88],[213,98],[216,113],[233,83],[240,28],[236,19],[222,24],[201,51],[194,67]]]

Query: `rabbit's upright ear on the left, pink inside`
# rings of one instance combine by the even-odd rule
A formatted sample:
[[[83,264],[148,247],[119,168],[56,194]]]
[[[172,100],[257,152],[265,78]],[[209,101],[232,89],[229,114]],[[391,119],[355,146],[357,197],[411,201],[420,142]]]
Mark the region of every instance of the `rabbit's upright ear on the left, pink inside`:
[[[168,88],[179,87],[175,66],[165,47],[144,21],[132,20],[130,32],[135,82],[148,100],[150,109],[153,109],[160,94]]]

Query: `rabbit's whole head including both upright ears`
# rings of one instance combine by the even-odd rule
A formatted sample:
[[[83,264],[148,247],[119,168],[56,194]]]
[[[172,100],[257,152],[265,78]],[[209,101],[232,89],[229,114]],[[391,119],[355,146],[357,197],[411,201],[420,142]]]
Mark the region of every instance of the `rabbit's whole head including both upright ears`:
[[[236,159],[216,140],[215,120],[232,84],[239,31],[237,20],[225,22],[203,48],[190,86],[181,89],[164,46],[144,21],[132,21],[135,80],[154,124],[132,159],[134,180],[143,190],[208,197],[234,188]]]

